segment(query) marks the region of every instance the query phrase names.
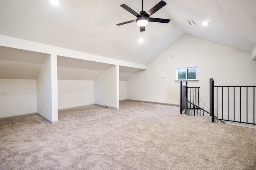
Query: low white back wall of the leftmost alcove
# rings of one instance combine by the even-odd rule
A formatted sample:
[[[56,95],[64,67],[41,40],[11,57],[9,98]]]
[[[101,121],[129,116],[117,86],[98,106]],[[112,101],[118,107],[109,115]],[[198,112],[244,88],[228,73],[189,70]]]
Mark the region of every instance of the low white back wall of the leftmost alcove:
[[[0,79],[0,118],[36,113],[36,80]]]

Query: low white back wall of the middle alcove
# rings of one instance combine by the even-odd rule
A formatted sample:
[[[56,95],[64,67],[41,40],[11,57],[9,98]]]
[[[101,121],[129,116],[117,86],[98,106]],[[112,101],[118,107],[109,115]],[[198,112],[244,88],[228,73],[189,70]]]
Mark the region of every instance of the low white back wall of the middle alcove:
[[[95,81],[58,80],[58,109],[95,104]]]

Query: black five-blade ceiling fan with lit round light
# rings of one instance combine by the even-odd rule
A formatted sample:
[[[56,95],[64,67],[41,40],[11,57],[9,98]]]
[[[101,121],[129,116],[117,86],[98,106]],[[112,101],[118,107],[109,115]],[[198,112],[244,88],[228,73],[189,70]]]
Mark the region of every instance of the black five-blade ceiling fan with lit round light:
[[[140,26],[140,32],[145,31],[146,29],[146,25],[148,25],[148,22],[160,22],[160,23],[169,23],[170,20],[169,19],[162,19],[162,18],[150,18],[150,16],[152,14],[154,14],[155,12],[157,12],[158,10],[160,10],[161,8],[163,8],[166,5],[166,2],[164,2],[163,0],[161,0],[158,4],[156,4],[153,8],[151,8],[148,12],[143,10],[143,0],[142,0],[142,11],[140,12],[140,14],[138,14],[137,12],[135,12],[134,10],[132,10],[130,7],[128,7],[126,4],[122,4],[120,5],[122,8],[124,8],[125,10],[127,10],[128,12],[130,12],[131,14],[133,14],[134,16],[137,17],[136,20],[131,20],[131,21],[126,21],[126,22],[122,22],[122,23],[118,23],[116,25],[124,25],[126,23],[131,23],[131,22],[135,22]]]

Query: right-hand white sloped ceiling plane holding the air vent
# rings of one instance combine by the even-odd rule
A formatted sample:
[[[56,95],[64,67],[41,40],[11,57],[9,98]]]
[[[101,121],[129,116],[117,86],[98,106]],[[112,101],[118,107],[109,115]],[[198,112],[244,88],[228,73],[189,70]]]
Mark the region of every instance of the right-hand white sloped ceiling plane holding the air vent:
[[[189,35],[252,53],[256,46],[256,0],[166,0],[166,12]],[[187,19],[197,25],[191,26]],[[202,21],[209,25],[202,26]]]

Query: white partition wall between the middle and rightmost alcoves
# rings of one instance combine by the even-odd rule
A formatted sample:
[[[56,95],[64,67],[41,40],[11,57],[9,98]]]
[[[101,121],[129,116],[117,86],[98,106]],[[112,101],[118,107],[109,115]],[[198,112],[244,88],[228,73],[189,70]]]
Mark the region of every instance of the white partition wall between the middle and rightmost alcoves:
[[[112,66],[96,79],[96,104],[119,109],[118,68],[119,66]]]

